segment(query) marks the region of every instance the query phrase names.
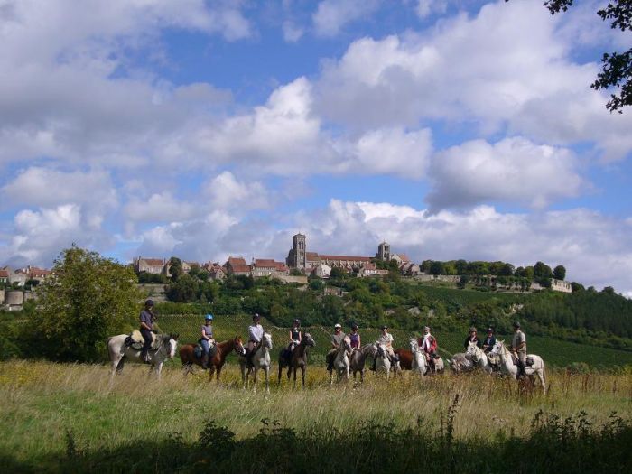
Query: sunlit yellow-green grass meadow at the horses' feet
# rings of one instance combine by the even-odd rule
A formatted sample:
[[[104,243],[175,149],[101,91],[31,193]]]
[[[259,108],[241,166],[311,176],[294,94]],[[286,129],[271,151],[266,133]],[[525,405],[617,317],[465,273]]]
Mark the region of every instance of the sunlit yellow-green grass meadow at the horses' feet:
[[[520,395],[516,382],[480,374],[423,381],[406,374],[389,383],[370,374],[363,386],[329,386],[325,371],[311,367],[307,390],[283,381],[264,395],[240,388],[232,356],[221,386],[209,385],[201,370],[184,377],[177,367],[166,367],[158,381],[131,365],[110,383],[105,366],[5,362],[0,420],[11,435],[0,437],[0,458],[14,469],[49,471],[77,453],[92,462],[138,442],[193,446],[209,420],[228,426],[237,440],[256,437],[264,419],[294,432],[343,433],[375,423],[445,436],[452,406],[451,437],[485,444],[529,436],[539,412],[563,420],[583,410],[594,425],[609,423],[615,411],[625,419],[632,413],[630,376],[551,371],[548,382],[547,396]]]

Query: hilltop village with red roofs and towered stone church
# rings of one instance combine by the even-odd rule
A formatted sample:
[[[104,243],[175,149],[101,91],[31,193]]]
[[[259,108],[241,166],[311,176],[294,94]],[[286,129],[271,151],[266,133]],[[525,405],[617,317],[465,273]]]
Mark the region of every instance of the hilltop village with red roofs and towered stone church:
[[[170,276],[171,258],[138,256],[132,266],[141,283],[164,283]],[[466,262],[456,260],[438,262],[424,260],[413,262],[403,253],[391,251],[387,242],[377,246],[374,256],[328,255],[308,250],[307,236],[299,233],[292,238],[284,262],[274,258],[252,258],[250,263],[243,256],[229,256],[223,264],[219,262],[189,262],[177,259],[181,270],[186,274],[205,274],[205,279],[222,281],[231,276],[252,278],[275,278],[283,283],[308,283],[309,278],[329,279],[343,272],[359,278],[382,277],[393,272],[403,278],[426,282],[444,282],[454,285],[473,283],[496,290],[534,292],[550,288],[556,292],[571,293],[572,285],[564,280],[556,267],[552,271],[547,265],[538,262],[533,267],[514,268],[503,262]],[[538,265],[541,265],[540,270]],[[544,268],[544,270],[542,270]],[[22,309],[23,302],[33,299],[35,288],[54,272],[35,266],[12,269],[0,268],[0,305],[9,310]]]

